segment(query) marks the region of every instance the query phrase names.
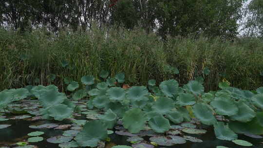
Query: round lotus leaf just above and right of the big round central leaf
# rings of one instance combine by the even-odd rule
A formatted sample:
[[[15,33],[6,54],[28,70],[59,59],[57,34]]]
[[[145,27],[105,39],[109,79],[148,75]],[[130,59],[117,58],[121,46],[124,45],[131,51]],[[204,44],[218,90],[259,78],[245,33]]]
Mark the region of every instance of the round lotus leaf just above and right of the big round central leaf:
[[[160,97],[155,101],[152,110],[166,114],[174,108],[174,101],[168,97]]]

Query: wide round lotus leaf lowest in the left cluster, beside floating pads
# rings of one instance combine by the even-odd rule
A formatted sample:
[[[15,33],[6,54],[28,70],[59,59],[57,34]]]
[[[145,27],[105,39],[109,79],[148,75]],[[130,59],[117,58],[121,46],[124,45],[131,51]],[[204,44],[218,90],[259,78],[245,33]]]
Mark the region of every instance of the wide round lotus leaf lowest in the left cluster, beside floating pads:
[[[58,104],[52,106],[48,112],[55,120],[62,121],[63,119],[69,118],[73,110],[64,104]]]

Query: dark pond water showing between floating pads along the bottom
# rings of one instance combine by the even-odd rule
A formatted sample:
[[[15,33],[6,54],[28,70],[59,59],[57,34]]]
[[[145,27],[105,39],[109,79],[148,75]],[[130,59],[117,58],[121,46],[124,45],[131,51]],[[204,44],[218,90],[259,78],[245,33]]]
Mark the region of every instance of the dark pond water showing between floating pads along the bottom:
[[[41,121],[26,121],[26,120],[8,120],[8,121],[0,121],[0,124],[11,124],[12,126],[0,129],[0,147],[8,146],[10,144],[15,144],[17,142],[26,141],[30,136],[27,136],[28,133],[32,131],[43,131],[44,135],[41,137],[44,138],[43,141],[38,143],[29,143],[30,145],[36,145],[38,148],[59,148],[58,144],[48,143],[46,141],[47,138],[52,136],[62,135],[63,130],[61,129],[31,129],[28,126],[35,125],[35,124],[44,124],[44,123],[51,123],[46,120]],[[54,123],[54,122],[52,122]],[[61,124],[61,122],[55,122],[57,124]],[[65,124],[65,123],[63,123]],[[242,147],[234,144],[231,141],[219,140],[216,139],[213,129],[208,129],[206,134],[188,134],[193,137],[197,137],[203,140],[202,143],[192,143],[187,141],[186,144],[178,144],[175,146],[159,146],[159,148],[216,148],[216,146],[225,146],[229,148],[263,148],[263,139],[255,139],[250,138],[245,135],[239,135],[238,139],[246,140],[252,143],[254,146],[252,147]],[[106,143],[106,148],[111,148],[113,145],[131,145],[129,142],[126,141],[127,136],[120,136],[116,134],[109,135],[111,138],[110,143]],[[149,137],[143,137],[145,140],[148,141]],[[14,146],[15,147],[15,146]]]

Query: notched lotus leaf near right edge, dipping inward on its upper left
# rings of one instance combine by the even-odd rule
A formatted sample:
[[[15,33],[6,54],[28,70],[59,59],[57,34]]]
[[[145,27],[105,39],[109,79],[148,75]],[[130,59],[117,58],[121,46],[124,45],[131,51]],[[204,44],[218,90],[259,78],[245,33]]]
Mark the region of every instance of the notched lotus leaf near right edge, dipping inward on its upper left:
[[[256,112],[249,108],[249,106],[247,106],[243,101],[238,101],[236,105],[238,107],[238,113],[231,116],[231,120],[248,122],[256,116]]]

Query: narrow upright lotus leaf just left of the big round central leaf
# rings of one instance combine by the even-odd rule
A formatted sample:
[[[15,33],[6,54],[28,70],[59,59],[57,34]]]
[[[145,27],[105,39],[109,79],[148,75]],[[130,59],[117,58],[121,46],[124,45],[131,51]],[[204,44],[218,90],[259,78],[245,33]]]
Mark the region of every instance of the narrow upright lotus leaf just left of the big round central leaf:
[[[109,109],[104,113],[104,115],[101,116],[101,121],[104,123],[107,129],[113,129],[117,121],[117,115],[111,109]]]

